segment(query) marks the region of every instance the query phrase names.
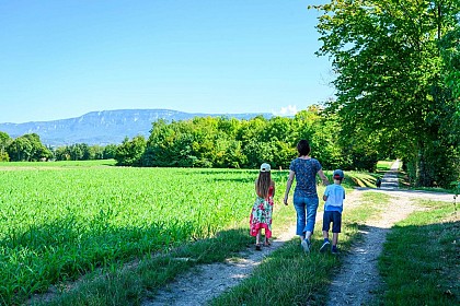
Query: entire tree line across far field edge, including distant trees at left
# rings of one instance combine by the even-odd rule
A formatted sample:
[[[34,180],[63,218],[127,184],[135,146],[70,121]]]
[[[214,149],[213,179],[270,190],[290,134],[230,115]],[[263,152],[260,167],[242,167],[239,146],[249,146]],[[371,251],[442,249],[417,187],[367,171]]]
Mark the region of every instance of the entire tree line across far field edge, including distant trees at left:
[[[123,166],[202,168],[257,168],[268,162],[274,168],[286,169],[297,156],[297,142],[308,139],[311,155],[324,168],[373,169],[376,150],[370,145],[342,141],[341,130],[337,116],[326,116],[323,107],[313,105],[294,118],[158,120],[152,122],[147,141],[135,137],[131,140],[126,138],[119,145],[74,143],[56,148],[54,152],[45,148],[42,151],[50,153],[42,154],[41,158],[53,155],[56,161],[115,158],[117,165]],[[8,148],[12,161],[37,161],[34,152],[41,152],[34,149],[38,148],[36,141],[31,142],[26,136],[9,141]],[[7,153],[3,160],[8,158]]]

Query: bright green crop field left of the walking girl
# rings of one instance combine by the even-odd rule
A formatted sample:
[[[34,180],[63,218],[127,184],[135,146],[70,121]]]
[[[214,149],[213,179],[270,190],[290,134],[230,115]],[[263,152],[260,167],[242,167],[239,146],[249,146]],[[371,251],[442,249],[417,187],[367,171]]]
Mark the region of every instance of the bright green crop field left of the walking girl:
[[[248,223],[257,175],[11,164],[0,164],[0,304]]]

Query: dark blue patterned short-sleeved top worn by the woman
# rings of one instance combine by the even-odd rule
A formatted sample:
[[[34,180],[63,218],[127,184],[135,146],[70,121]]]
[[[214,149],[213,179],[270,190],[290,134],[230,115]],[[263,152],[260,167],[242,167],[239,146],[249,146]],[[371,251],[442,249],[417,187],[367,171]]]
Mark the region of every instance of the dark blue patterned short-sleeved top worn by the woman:
[[[294,197],[318,198],[317,173],[321,170],[320,162],[315,158],[296,158],[290,162],[289,169],[296,173]]]

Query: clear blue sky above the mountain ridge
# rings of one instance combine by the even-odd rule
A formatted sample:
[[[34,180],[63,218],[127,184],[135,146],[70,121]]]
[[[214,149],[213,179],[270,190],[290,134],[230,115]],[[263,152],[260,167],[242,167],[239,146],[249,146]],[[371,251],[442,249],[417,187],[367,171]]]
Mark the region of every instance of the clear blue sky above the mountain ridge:
[[[287,114],[332,97],[300,0],[4,0],[0,122],[89,111]]]

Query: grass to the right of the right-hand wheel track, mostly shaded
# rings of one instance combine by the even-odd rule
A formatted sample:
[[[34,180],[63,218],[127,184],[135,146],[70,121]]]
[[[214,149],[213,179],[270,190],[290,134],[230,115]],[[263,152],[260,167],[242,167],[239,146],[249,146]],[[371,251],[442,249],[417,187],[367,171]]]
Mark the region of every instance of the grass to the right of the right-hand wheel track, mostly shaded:
[[[451,203],[419,202],[398,223],[379,259],[381,305],[460,305],[460,222]]]

